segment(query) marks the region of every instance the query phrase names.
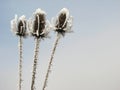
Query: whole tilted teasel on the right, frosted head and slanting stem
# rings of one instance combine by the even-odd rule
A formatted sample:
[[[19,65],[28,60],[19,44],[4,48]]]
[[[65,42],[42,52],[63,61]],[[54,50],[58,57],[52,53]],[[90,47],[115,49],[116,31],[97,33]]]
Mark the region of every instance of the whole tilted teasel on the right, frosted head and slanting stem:
[[[47,69],[47,73],[45,76],[42,90],[45,90],[47,87],[47,82],[48,82],[48,78],[49,78],[49,74],[51,71],[51,66],[53,63],[53,58],[54,58],[54,54],[55,54],[58,42],[59,42],[61,36],[65,36],[66,33],[71,32],[72,21],[73,21],[73,18],[72,18],[72,16],[69,15],[69,10],[66,8],[63,8],[58,13],[58,16],[56,18],[52,19],[52,28],[55,32],[57,32],[57,36],[56,36],[56,39],[55,39],[55,42],[53,45],[53,49],[52,49],[52,53],[51,53],[51,56],[49,59],[48,69]]]

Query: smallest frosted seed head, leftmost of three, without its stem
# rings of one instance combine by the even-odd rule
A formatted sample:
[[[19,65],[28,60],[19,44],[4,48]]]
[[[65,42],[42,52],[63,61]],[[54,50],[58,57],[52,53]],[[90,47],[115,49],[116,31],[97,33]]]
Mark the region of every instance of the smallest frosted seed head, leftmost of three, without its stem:
[[[27,20],[24,15],[22,15],[19,18],[17,17],[17,15],[15,15],[15,18],[13,20],[11,20],[12,32],[14,32],[18,36],[26,37],[27,36],[26,22],[27,22]]]

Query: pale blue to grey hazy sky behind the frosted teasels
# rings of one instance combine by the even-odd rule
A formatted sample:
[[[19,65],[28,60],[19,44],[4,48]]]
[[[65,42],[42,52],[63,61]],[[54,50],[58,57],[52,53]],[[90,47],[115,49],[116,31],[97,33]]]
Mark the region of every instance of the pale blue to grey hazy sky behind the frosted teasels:
[[[74,33],[59,42],[46,90],[120,90],[120,0],[1,0],[0,90],[18,89],[18,37],[10,32],[14,15],[28,19],[41,8],[51,20],[64,7],[74,17]],[[36,90],[42,90],[55,33],[50,36],[40,43]],[[34,38],[23,44],[22,90],[30,90]]]

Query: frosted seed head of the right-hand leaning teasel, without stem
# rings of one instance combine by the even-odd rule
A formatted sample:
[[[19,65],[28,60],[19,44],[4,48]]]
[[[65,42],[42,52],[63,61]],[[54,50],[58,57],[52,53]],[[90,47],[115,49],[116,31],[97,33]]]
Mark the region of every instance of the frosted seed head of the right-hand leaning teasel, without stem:
[[[71,32],[73,17],[70,16],[68,9],[63,8],[52,22],[53,29],[64,36],[66,32]]]

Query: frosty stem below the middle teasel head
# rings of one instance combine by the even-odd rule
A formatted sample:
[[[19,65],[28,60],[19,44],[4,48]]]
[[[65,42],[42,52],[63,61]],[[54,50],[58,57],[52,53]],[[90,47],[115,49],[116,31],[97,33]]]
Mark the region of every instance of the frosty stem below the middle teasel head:
[[[35,53],[34,53],[34,62],[33,62],[31,90],[35,90],[35,75],[36,75],[37,62],[38,62],[40,38],[36,38],[35,41],[36,42],[35,42],[35,51],[34,51]]]

